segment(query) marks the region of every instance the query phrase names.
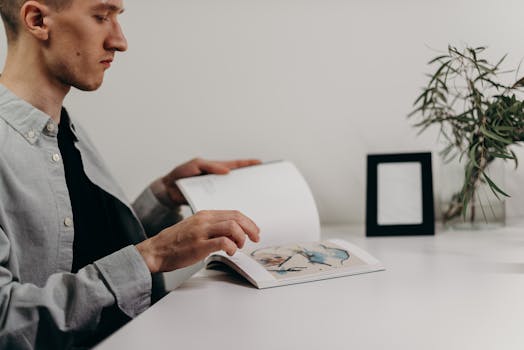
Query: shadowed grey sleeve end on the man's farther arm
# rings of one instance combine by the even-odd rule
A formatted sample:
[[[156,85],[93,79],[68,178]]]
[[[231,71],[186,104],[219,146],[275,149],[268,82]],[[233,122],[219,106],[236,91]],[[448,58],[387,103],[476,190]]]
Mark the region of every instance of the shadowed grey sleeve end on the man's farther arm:
[[[182,220],[180,206],[171,208],[162,204],[153,193],[151,186],[137,197],[133,203],[133,210],[149,237]]]

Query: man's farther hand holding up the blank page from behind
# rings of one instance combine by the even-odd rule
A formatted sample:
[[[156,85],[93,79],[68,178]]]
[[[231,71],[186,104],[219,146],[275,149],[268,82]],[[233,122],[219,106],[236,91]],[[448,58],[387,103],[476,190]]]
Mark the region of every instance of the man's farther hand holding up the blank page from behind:
[[[258,159],[239,159],[230,161],[211,161],[201,158],[195,158],[184,163],[169,174],[161,178],[169,200],[172,205],[187,204],[187,200],[180,192],[175,181],[184,177],[204,175],[204,174],[227,174],[231,169],[242,168],[250,165],[260,164]]]

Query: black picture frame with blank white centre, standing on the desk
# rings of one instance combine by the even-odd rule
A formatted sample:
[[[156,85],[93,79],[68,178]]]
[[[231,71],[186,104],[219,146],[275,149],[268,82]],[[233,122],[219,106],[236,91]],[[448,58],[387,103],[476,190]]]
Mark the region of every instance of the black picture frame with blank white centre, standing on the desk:
[[[434,234],[431,153],[368,155],[366,236]]]

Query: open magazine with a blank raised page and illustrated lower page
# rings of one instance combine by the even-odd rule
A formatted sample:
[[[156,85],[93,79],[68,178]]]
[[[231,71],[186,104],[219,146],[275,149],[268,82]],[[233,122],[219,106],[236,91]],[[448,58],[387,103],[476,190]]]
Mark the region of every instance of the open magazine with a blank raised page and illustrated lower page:
[[[320,241],[311,191],[290,162],[264,163],[228,175],[184,178],[177,185],[194,212],[239,210],[260,228],[260,242],[246,241],[228,256],[218,252],[208,267],[226,264],[257,288],[383,270],[370,254],[343,240]]]

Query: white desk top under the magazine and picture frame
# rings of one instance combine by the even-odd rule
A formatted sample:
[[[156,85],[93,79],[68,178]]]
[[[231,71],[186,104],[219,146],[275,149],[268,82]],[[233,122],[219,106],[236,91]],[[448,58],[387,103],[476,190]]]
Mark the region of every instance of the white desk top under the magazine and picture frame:
[[[365,238],[386,271],[257,290],[203,271],[99,349],[524,349],[524,227]]]

